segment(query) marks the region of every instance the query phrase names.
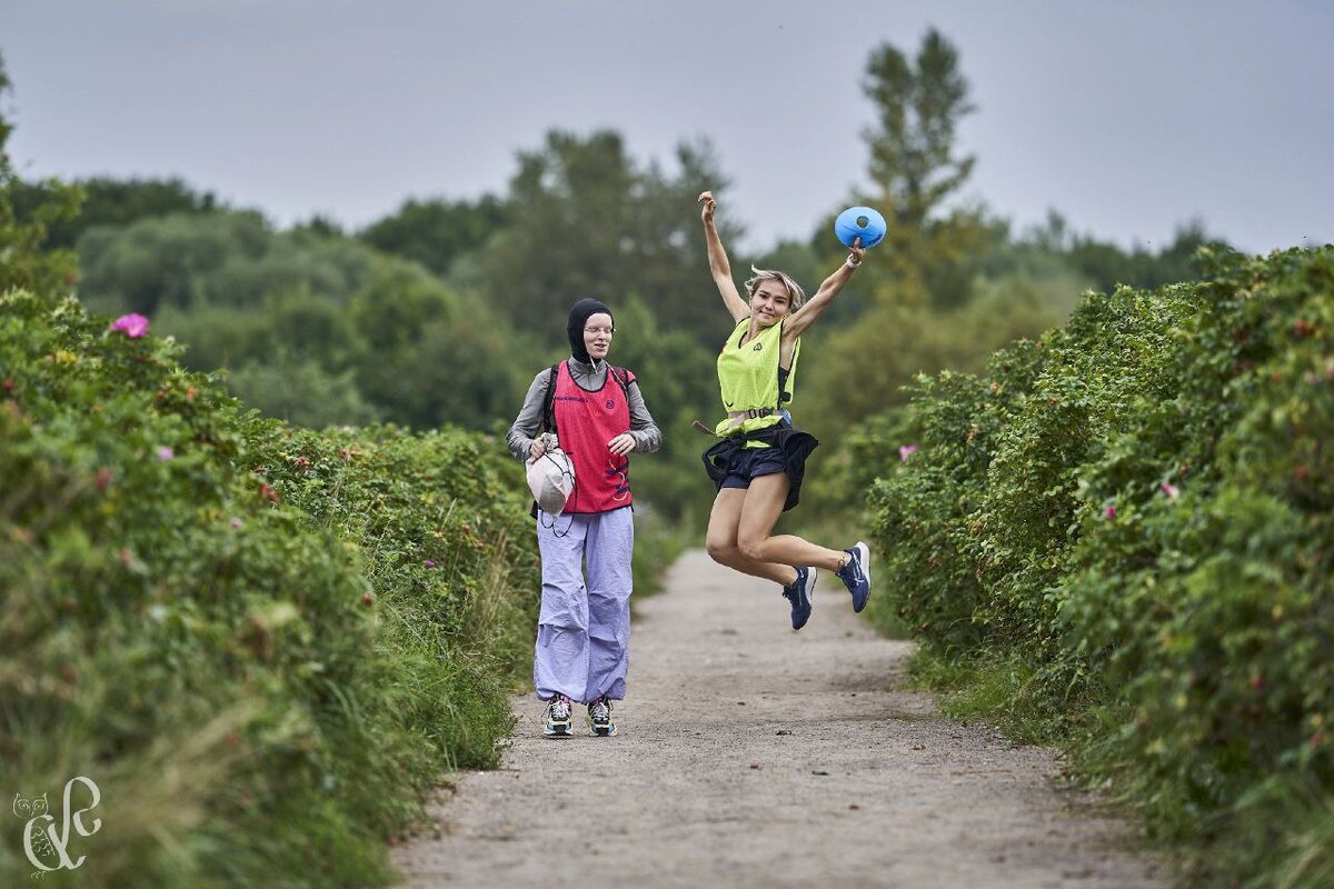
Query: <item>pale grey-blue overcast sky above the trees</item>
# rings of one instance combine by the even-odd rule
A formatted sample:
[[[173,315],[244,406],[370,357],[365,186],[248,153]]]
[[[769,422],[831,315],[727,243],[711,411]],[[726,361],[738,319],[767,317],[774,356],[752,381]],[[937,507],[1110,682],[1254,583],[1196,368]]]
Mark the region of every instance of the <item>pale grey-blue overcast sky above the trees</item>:
[[[0,0],[0,53],[25,177],[180,176],[360,227],[503,193],[551,128],[614,128],[668,169],[712,140],[720,212],[764,248],[846,205],[868,53],[931,25],[978,108],[967,197],[1019,228],[1054,208],[1126,247],[1194,217],[1251,252],[1334,241],[1323,0]]]

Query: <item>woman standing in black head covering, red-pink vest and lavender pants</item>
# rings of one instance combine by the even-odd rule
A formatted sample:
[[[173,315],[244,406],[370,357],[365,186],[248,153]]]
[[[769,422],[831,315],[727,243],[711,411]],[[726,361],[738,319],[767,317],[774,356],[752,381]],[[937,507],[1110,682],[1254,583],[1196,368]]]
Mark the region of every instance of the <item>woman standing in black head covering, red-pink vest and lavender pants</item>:
[[[510,453],[534,462],[554,432],[574,461],[574,492],[559,516],[536,505],[542,552],[542,613],[532,662],[538,698],[547,701],[544,733],[572,733],[574,702],[588,706],[595,736],[616,733],[612,701],[626,697],[630,645],[630,453],[662,444],[635,375],[607,364],[615,333],[611,309],[580,300],[566,325],[571,356],[543,369],[510,428]]]

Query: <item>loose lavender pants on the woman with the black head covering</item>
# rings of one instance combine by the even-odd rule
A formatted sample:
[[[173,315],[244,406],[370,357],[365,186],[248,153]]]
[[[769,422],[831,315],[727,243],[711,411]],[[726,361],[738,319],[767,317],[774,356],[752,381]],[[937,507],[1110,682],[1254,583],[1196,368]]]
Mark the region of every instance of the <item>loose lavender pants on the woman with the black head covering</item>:
[[[538,697],[626,697],[635,548],[630,508],[558,518],[539,512],[538,546],[542,614],[532,661]]]

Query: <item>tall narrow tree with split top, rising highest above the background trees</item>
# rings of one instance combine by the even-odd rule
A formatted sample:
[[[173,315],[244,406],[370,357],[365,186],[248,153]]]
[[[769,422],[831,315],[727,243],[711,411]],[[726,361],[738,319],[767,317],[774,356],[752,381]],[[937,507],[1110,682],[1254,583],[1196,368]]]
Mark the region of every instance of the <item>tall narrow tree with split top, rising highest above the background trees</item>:
[[[960,305],[971,296],[972,265],[990,229],[980,209],[948,207],[976,161],[955,145],[959,120],[974,111],[959,53],[932,28],[914,60],[883,44],[866,73],[862,87],[875,103],[876,125],[864,133],[871,149],[864,197],[888,224],[874,289],[892,291],[898,303]]]

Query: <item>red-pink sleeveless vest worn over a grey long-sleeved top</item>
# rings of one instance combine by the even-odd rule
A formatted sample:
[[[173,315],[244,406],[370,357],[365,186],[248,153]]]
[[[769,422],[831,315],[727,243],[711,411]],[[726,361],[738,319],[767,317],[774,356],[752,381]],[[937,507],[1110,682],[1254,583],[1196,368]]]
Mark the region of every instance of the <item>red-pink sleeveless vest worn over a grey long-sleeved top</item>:
[[[566,500],[566,512],[611,512],[631,502],[630,457],[607,449],[608,441],[630,432],[630,404],[612,373],[623,373],[626,385],[635,380],[630,371],[608,365],[602,389],[584,392],[570,376],[568,363],[562,361],[556,372],[551,411],[560,446],[575,464],[575,489]]]

